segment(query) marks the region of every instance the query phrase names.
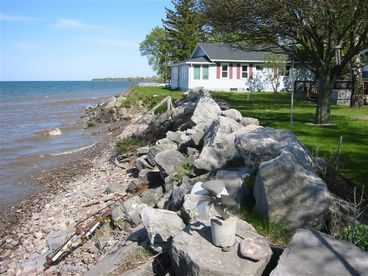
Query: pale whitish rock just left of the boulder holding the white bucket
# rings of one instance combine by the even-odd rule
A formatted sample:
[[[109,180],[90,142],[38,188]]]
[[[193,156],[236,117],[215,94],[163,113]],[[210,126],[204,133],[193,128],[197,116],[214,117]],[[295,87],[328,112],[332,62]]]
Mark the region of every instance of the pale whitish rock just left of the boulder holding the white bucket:
[[[151,246],[158,252],[168,250],[170,240],[185,228],[184,222],[175,212],[147,206],[140,214]]]

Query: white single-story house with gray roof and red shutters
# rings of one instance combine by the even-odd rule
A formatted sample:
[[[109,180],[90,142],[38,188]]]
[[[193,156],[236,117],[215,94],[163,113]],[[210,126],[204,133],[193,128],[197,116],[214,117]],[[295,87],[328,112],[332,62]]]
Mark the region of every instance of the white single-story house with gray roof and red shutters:
[[[270,74],[277,72],[273,68],[264,68],[264,58],[265,52],[262,51],[199,43],[190,59],[170,65],[171,88],[272,92]],[[300,75],[303,80],[313,79],[306,69],[299,69]],[[288,77],[283,76],[280,80],[278,90],[289,89]]]

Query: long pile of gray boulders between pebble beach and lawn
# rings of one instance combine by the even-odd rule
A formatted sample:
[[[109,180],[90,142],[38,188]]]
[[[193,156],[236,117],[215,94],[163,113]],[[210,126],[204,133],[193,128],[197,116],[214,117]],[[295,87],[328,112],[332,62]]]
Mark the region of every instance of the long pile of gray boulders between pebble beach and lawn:
[[[190,194],[197,182],[224,182],[238,207],[254,201],[256,213],[290,231],[320,227],[329,211],[331,195],[294,134],[261,127],[208,93],[190,93],[135,135],[155,142],[137,150],[127,189],[136,195],[112,219],[134,227],[133,241],[169,256],[177,275],[262,275],[272,256],[268,241],[240,219],[234,246],[214,246]]]

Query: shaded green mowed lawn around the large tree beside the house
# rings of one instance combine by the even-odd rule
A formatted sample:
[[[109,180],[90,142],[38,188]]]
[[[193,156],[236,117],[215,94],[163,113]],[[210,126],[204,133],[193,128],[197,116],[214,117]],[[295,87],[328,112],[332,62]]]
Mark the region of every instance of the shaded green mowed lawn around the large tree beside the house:
[[[226,100],[243,116],[257,118],[262,126],[290,129],[289,93],[251,93],[249,101],[242,93],[218,92],[213,96]],[[307,125],[313,123],[315,110],[315,103],[296,100],[292,131],[313,155],[318,153],[333,166],[339,137],[343,136],[339,173],[362,190],[368,179],[368,108],[331,106],[332,127]],[[368,195],[368,187],[365,191]]]

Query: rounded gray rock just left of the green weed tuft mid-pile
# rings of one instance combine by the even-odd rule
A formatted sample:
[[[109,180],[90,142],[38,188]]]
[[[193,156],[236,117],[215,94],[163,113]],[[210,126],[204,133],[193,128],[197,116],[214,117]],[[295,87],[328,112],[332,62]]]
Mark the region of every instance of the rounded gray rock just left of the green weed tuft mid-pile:
[[[164,150],[155,156],[161,175],[172,175],[183,166],[185,157],[176,150]]]

